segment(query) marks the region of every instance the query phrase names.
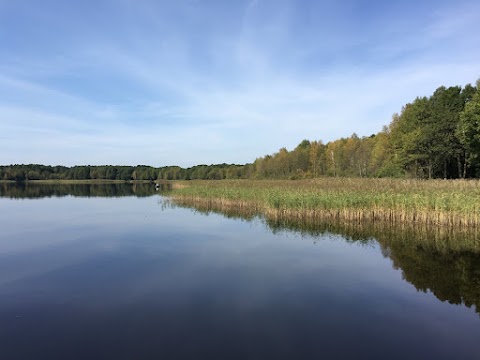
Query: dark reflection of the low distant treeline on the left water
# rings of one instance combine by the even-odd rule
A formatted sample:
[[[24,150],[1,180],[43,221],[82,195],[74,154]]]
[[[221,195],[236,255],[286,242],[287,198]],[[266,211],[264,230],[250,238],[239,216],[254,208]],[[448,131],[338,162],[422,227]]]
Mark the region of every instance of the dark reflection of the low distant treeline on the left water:
[[[152,196],[168,190],[169,184],[150,183],[0,183],[0,197],[14,199],[35,199],[44,197],[120,197]]]

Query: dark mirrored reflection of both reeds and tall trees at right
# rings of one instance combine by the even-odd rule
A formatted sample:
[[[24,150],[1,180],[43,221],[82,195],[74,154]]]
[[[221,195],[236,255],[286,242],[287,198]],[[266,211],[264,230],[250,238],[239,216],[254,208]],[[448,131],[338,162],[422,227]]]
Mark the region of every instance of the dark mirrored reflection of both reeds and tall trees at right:
[[[214,204],[182,201],[172,206],[191,207],[208,215],[250,221],[257,215],[251,209],[235,209]],[[392,227],[385,223],[324,223],[307,219],[264,219],[274,232],[293,231],[311,236],[338,234],[345,241],[377,241],[382,254],[401,269],[403,278],[419,291],[431,291],[439,300],[474,306],[480,315],[480,234],[477,229],[431,228],[421,225]]]

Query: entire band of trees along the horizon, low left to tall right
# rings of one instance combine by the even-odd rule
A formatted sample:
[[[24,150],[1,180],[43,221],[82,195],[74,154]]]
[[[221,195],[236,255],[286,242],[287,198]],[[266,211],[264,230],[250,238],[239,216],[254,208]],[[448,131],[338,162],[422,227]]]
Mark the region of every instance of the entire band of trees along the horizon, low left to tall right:
[[[439,87],[394,114],[378,134],[327,144],[303,140],[251,164],[179,166],[0,166],[3,180],[300,179],[317,176],[480,177],[480,80]]]

